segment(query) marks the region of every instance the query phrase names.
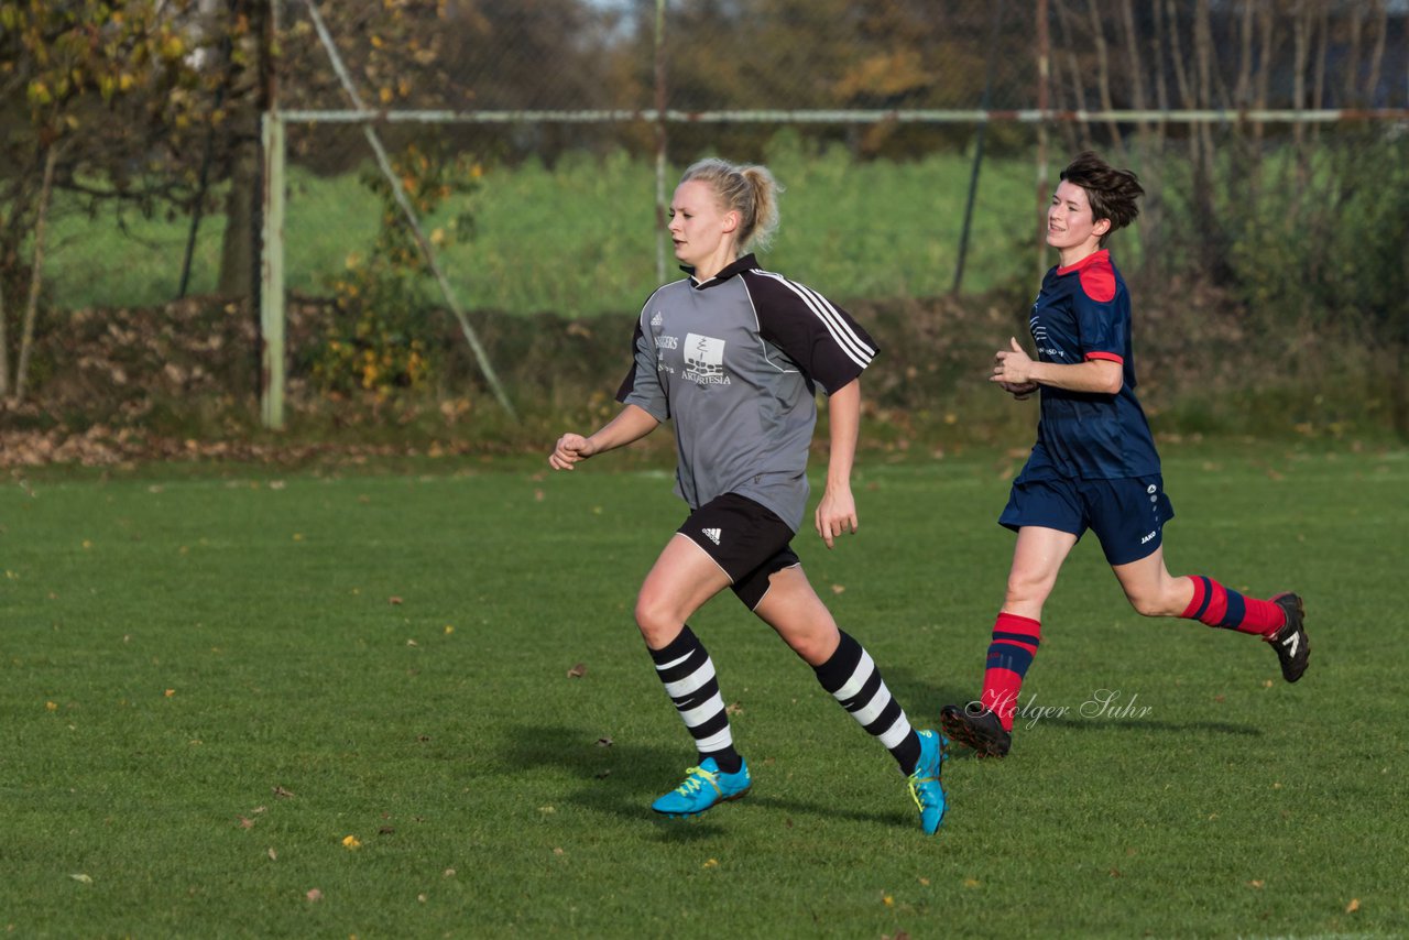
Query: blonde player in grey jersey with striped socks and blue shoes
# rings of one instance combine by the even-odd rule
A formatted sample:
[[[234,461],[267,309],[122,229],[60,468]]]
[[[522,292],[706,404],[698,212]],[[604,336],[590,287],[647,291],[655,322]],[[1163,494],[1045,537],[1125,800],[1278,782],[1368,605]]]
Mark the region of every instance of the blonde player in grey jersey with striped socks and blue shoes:
[[[689,519],[641,585],[635,621],[655,671],[695,738],[696,765],[652,809],[693,816],[748,792],[714,664],[686,620],[733,588],[778,631],[907,775],[920,824],[944,817],[944,740],[916,731],[871,655],[837,629],[813,592],[790,541],[807,503],[807,450],[827,392],[831,455],[814,513],[831,548],[857,530],[851,464],[861,421],[861,372],[875,344],[817,292],[758,268],[752,244],[778,225],[778,186],[762,166],[702,161],[671,202],[671,240],[689,278],[659,287],[635,324],[635,362],[621,412],[590,437],[564,434],[548,462],[579,461],[675,424],[676,492]]]

